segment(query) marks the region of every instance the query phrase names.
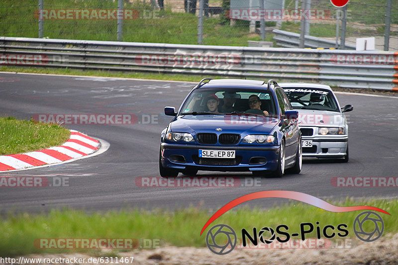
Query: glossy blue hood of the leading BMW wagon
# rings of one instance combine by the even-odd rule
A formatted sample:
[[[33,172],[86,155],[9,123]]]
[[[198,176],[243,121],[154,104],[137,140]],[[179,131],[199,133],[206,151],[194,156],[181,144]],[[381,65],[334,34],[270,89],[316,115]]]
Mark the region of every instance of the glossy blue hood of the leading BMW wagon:
[[[246,116],[246,115],[183,115],[178,116],[171,125],[172,132],[213,132],[221,128],[219,133],[250,133],[268,134],[279,123],[279,119]]]

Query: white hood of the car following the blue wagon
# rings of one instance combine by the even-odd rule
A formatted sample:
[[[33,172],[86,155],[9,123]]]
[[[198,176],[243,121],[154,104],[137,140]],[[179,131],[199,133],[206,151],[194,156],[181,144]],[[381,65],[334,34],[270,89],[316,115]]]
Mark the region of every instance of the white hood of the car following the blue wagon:
[[[335,111],[297,109],[298,126],[339,127],[345,123],[345,115]]]

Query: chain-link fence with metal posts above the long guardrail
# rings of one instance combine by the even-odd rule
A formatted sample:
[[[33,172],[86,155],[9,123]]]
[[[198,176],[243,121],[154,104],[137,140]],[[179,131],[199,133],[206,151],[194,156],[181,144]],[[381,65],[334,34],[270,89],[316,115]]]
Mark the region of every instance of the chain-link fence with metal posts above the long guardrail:
[[[2,0],[0,35],[132,42],[282,46],[274,29],[346,48],[375,37],[398,50],[398,0]],[[296,35],[297,35],[296,34]],[[309,46],[307,46],[309,47]]]

